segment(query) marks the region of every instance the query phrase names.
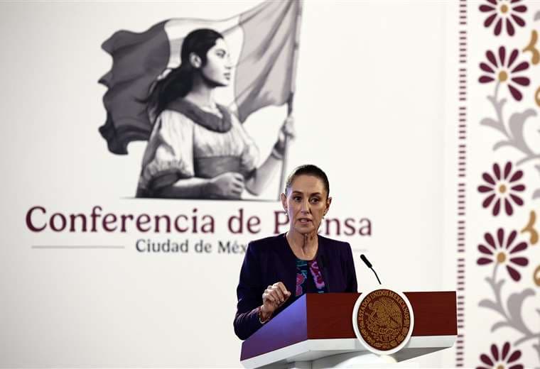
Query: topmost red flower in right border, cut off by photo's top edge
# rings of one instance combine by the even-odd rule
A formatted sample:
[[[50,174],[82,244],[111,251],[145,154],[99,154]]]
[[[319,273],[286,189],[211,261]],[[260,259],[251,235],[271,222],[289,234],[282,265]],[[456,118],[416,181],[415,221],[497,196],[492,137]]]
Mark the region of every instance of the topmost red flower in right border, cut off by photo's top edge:
[[[525,21],[517,13],[527,11],[527,6],[517,4],[522,0],[486,0],[485,4],[480,5],[480,11],[487,13],[484,26],[489,28],[495,24],[493,33],[496,36],[500,35],[503,26],[506,26],[508,35],[513,36],[515,33],[514,22],[520,26],[525,26]]]

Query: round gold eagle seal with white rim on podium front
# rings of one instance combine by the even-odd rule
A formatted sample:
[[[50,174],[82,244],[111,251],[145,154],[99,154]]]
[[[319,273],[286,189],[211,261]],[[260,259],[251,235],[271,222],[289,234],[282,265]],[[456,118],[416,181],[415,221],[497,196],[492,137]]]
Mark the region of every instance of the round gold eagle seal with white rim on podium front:
[[[411,337],[414,316],[409,299],[387,289],[361,294],[352,316],[357,338],[377,354],[401,350]]]

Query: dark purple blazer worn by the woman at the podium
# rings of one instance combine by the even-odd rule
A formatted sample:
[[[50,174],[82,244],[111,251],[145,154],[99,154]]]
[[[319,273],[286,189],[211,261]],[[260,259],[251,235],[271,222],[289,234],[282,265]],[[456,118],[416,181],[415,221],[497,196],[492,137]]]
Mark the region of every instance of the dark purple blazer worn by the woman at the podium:
[[[349,243],[318,236],[317,262],[325,280],[326,292],[357,292],[355,263]],[[234,333],[240,339],[251,336],[262,324],[258,307],[269,285],[283,282],[291,297],[274,312],[286,309],[298,297],[296,292],[296,256],[284,234],[249,243],[237,287],[237,313]]]

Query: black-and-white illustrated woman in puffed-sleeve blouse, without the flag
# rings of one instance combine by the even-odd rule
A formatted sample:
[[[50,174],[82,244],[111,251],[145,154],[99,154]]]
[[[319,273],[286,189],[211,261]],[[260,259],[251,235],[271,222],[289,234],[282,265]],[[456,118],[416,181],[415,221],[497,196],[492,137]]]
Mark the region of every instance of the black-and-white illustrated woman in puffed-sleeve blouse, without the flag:
[[[148,96],[153,131],[148,140],[137,197],[239,199],[258,195],[281,167],[289,116],[271,154],[259,167],[259,149],[214,91],[232,78],[223,36],[198,29],[183,40],[180,67],[156,83]]]

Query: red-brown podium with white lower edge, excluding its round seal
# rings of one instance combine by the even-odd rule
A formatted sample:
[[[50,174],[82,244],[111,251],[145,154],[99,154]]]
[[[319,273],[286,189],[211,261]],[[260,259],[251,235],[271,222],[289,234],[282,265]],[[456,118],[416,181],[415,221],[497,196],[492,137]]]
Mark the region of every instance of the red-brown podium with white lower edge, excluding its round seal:
[[[453,346],[458,334],[455,292],[405,292],[414,312],[406,346],[377,356],[355,336],[358,293],[304,294],[242,343],[245,368],[384,367]]]

